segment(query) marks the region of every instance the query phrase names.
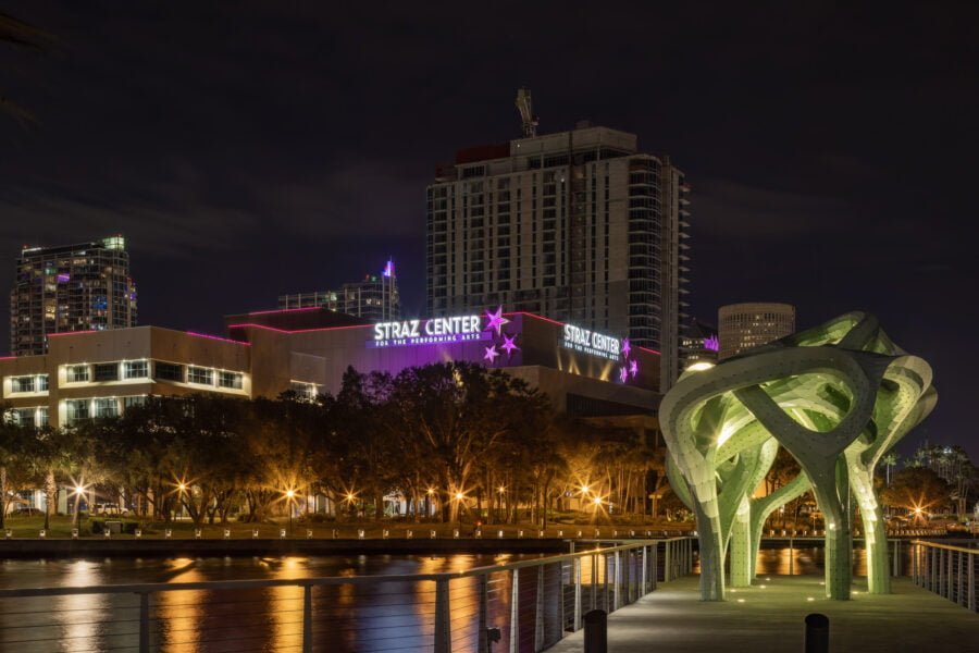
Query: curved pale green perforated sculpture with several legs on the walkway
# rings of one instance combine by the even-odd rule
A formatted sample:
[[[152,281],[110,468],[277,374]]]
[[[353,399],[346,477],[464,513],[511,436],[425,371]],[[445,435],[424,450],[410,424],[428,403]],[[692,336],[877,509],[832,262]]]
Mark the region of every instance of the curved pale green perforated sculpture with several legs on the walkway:
[[[865,312],[684,372],[659,420],[670,484],[697,518],[702,597],[723,600],[729,549],[731,584],[749,586],[766,518],[810,489],[826,518],[827,596],[850,599],[851,495],[866,534],[869,590],[890,592],[873,471],[937,398],[928,364]],[[754,497],[780,445],[802,473]]]

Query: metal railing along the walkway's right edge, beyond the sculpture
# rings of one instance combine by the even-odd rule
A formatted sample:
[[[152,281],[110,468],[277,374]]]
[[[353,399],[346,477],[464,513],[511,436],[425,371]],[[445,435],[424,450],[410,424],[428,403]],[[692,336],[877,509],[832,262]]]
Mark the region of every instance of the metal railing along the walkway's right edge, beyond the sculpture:
[[[975,541],[964,544],[967,546],[914,540],[910,543],[912,580],[939,596],[979,612],[976,606],[979,549]]]

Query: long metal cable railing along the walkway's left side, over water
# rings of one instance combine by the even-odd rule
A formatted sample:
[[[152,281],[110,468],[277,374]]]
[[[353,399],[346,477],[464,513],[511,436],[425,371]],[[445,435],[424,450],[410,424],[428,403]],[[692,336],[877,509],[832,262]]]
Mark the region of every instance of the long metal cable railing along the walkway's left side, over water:
[[[538,652],[693,566],[690,538],[572,546],[456,572],[0,590],[0,650]]]

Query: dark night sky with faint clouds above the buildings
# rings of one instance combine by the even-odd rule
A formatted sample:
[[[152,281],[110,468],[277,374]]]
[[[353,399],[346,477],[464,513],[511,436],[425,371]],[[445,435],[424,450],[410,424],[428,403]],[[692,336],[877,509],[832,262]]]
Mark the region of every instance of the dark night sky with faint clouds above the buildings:
[[[0,115],[0,279],[121,232],[142,324],[216,333],[387,255],[421,313],[425,185],[518,137],[528,86],[542,132],[590,119],[686,172],[695,316],[876,312],[940,395],[902,451],[979,460],[976,4],[654,4],[5,2],[53,39],[0,46],[36,119]]]

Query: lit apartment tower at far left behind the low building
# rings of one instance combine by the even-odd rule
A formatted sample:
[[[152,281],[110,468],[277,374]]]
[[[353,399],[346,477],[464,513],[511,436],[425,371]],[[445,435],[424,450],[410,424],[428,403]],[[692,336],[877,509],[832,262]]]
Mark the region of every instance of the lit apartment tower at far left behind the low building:
[[[35,356],[48,336],[136,325],[136,284],[123,236],[25,247],[10,293],[10,350]]]

